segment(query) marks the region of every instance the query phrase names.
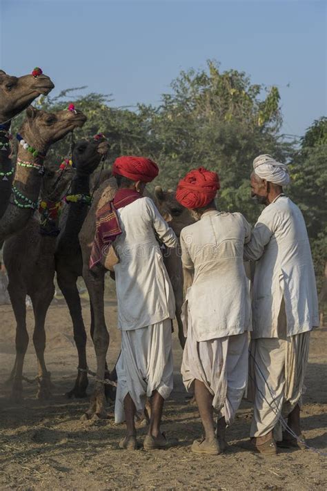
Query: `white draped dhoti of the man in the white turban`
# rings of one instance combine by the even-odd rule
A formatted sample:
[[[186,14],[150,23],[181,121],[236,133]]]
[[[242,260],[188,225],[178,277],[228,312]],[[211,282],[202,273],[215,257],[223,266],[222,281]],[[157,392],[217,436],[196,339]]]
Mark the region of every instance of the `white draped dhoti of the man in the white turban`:
[[[254,405],[250,436],[275,430],[280,441],[280,416],[287,417],[304,394],[310,331],[281,338],[259,338],[250,344],[248,398]]]

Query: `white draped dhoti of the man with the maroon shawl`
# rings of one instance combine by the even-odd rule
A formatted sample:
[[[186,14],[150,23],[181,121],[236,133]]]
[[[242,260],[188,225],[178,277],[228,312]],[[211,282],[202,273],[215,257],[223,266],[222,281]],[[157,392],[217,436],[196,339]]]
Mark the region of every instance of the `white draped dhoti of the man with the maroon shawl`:
[[[164,398],[172,392],[172,324],[170,319],[147,327],[121,331],[121,354],[117,361],[115,422],[125,421],[123,400],[130,394],[137,412],[146,397],[157,390]]]

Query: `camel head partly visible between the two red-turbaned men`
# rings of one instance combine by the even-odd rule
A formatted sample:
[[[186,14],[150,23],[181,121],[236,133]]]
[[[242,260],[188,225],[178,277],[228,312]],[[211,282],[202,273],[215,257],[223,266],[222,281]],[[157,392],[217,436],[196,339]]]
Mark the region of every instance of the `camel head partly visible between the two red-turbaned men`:
[[[164,191],[161,186],[155,186],[155,204],[177,237],[179,237],[181,229],[195,221],[190,212],[176,200],[175,191],[172,189]]]

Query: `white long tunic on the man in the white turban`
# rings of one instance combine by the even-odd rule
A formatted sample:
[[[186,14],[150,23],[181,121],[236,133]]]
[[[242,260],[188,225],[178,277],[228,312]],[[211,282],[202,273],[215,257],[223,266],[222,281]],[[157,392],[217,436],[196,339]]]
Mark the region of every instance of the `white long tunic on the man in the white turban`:
[[[257,261],[253,285],[253,338],[277,338],[284,297],[287,336],[319,325],[315,272],[303,215],[279,195],[259,216],[244,258]]]

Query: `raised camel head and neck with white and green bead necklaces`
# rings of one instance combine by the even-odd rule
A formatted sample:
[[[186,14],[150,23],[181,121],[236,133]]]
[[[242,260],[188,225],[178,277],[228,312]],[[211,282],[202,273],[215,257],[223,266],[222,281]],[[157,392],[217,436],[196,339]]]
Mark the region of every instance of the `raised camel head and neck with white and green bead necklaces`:
[[[19,144],[10,203],[0,220],[0,244],[23,229],[37,209],[45,169],[43,161],[50,145],[85,122],[86,116],[75,109],[54,114],[28,106],[17,135],[25,143]]]

